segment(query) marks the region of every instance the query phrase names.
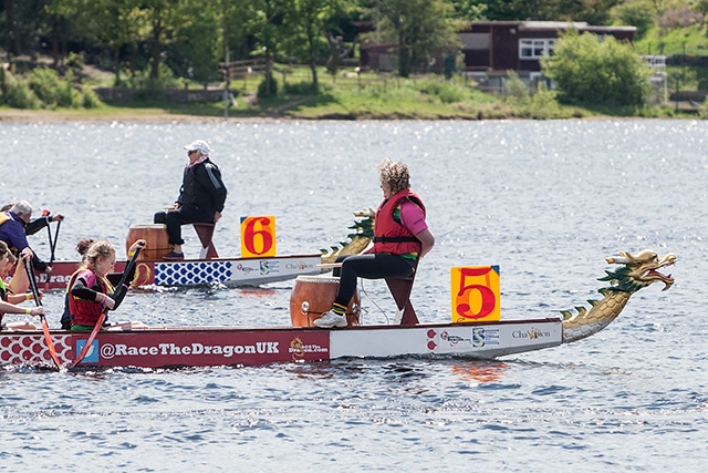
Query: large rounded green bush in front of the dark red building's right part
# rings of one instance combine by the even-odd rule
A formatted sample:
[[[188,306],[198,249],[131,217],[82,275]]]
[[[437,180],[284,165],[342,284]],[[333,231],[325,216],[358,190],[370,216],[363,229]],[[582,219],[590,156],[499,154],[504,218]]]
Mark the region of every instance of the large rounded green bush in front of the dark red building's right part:
[[[614,38],[569,30],[541,68],[563,103],[641,107],[650,91],[649,68],[631,44]]]

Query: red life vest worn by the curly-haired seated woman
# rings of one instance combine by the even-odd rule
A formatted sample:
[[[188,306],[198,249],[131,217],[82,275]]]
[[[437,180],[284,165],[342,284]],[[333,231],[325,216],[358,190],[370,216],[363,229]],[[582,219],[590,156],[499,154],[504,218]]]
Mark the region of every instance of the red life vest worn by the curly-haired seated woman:
[[[394,209],[404,199],[408,199],[423,209],[425,205],[418,195],[409,188],[403,189],[384,200],[376,210],[374,220],[374,253],[391,253],[403,255],[404,253],[420,253],[420,240],[408,228],[394,220]]]

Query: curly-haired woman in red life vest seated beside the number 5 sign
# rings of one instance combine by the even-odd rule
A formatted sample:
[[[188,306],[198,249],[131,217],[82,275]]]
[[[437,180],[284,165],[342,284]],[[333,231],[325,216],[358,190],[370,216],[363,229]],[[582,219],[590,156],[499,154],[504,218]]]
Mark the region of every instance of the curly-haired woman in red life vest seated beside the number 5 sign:
[[[346,306],[356,290],[357,277],[412,277],[420,258],[435,246],[435,237],[425,220],[425,205],[410,189],[408,167],[385,158],[377,169],[384,200],[376,210],[373,246],[360,255],[337,258],[342,261],[340,289],[332,309],[313,322],[315,327],[346,327]]]

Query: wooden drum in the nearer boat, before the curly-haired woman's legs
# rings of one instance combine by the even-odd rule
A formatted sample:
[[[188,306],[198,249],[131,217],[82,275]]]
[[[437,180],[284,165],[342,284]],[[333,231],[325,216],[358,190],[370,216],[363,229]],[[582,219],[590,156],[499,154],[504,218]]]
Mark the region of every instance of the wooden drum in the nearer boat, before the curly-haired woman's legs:
[[[293,327],[314,327],[312,323],[332,308],[340,289],[340,278],[332,276],[298,276],[290,294],[290,319]],[[361,299],[358,289],[346,306],[346,322],[358,326]]]

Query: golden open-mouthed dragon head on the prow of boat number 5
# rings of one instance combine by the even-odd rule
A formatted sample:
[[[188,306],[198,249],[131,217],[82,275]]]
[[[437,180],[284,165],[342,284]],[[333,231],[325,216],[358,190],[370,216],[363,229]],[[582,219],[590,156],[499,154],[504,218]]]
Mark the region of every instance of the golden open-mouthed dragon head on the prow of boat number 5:
[[[611,282],[607,290],[636,292],[657,281],[664,282],[663,290],[667,290],[674,284],[671,275],[665,276],[658,271],[658,269],[676,263],[676,255],[673,253],[659,259],[658,255],[650,249],[645,249],[636,255],[629,251],[620,251],[620,256],[612,256],[605,260],[610,265],[624,265],[614,271],[605,271],[607,276],[598,279]]]

